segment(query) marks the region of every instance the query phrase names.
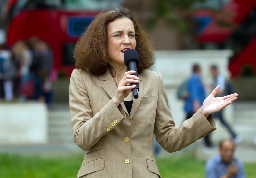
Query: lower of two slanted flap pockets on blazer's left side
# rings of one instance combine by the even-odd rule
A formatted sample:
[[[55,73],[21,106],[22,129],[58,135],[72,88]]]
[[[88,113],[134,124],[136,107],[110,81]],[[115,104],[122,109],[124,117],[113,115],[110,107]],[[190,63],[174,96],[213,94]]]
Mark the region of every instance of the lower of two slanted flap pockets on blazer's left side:
[[[82,165],[78,171],[77,178],[82,177],[86,174],[90,174],[95,171],[104,169],[104,158],[94,159],[88,163]]]

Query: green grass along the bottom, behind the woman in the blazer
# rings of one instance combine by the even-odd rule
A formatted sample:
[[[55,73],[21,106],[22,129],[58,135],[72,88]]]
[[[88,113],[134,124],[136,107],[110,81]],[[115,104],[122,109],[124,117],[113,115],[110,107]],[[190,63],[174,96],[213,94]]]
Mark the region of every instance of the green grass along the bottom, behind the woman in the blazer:
[[[0,178],[74,178],[83,155],[64,157],[21,156],[0,154]],[[192,154],[156,159],[162,178],[204,178],[205,162]],[[255,177],[256,164],[245,164],[247,178]]]

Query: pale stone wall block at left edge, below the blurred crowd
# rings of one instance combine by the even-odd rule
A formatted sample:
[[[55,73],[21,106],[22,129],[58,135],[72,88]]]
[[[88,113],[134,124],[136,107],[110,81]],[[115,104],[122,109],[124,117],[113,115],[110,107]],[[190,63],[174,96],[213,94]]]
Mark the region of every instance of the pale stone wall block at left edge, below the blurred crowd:
[[[38,102],[0,103],[0,145],[48,142],[48,110]]]

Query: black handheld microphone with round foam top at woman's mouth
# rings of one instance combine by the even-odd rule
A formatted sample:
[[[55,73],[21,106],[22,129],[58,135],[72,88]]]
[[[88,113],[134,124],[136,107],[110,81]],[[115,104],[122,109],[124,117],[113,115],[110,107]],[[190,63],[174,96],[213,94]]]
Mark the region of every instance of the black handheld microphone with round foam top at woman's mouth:
[[[137,72],[137,64],[139,63],[140,59],[139,59],[139,54],[136,50],[134,49],[128,49],[126,51],[124,51],[124,64],[125,66],[128,67],[128,71],[129,70],[134,70],[136,71],[135,75],[138,77],[138,72]],[[133,97],[135,99],[137,99],[139,97],[139,83],[131,83],[131,85],[136,85],[136,87],[134,89],[132,89],[133,92]]]

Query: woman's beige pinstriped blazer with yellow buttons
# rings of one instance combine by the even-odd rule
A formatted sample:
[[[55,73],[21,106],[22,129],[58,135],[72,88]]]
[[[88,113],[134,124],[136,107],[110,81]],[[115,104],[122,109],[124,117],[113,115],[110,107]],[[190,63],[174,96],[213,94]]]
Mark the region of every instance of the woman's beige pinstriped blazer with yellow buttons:
[[[70,78],[69,105],[74,142],[86,154],[77,177],[160,177],[152,151],[153,132],[168,152],[178,151],[215,130],[212,115],[200,108],[175,127],[162,75],[139,74],[139,98],[130,115],[124,103],[116,107],[116,83],[107,71],[101,76],[75,69]]]

